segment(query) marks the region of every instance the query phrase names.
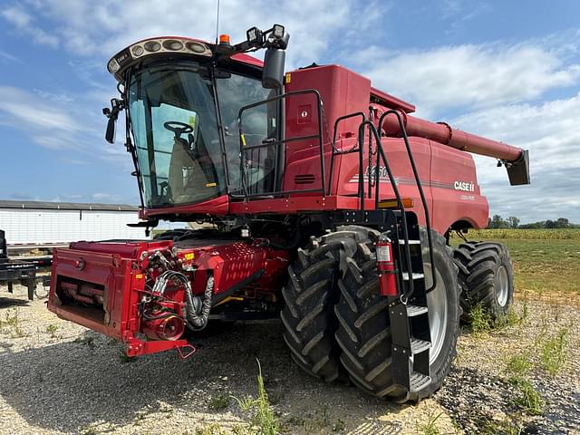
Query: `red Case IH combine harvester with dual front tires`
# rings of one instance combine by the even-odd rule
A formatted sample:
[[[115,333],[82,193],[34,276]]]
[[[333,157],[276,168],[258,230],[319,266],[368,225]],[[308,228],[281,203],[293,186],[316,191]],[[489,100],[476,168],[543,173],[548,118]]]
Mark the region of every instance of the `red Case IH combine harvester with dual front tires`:
[[[488,223],[466,151],[511,184],[529,183],[527,151],[415,118],[341,66],[284,73],[288,38],[277,24],[234,45],[159,37],[111,59],[106,139],[125,111],[136,225],[206,225],[56,249],[48,308],[130,356],[191,353],[186,329],[219,320],[281,318],[304,371],[418,401],[449,372],[462,313],[497,317],[512,299],[505,247],[449,247]],[[247,55],[262,48],[264,63]]]

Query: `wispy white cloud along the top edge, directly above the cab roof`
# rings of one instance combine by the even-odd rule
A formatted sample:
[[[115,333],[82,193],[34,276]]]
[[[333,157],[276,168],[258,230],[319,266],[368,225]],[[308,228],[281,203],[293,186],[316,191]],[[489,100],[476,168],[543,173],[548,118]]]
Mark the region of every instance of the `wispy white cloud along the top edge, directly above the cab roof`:
[[[155,35],[180,34],[205,38],[213,42],[216,35],[217,0],[141,1],[113,0],[34,0],[28,2],[35,14],[52,24],[54,43],[72,53],[111,56],[123,46]],[[268,0],[222,2],[220,33],[231,34],[233,41],[246,38],[247,28],[257,25],[285,24],[291,44],[299,50],[288,52],[288,64],[301,66],[319,59],[334,36],[351,30],[352,17],[360,16],[357,29],[368,29],[386,10],[388,3],[374,0],[359,5],[354,0],[318,0],[316,2],[283,1],[275,6]],[[8,8],[5,18],[21,30],[32,33],[29,14],[19,6]],[[372,12],[372,13],[371,13]],[[7,15],[7,16],[6,16]],[[46,34],[46,33],[45,33]],[[47,35],[47,34],[46,34]],[[363,35],[358,34],[362,39]],[[39,38],[40,39],[40,38]]]

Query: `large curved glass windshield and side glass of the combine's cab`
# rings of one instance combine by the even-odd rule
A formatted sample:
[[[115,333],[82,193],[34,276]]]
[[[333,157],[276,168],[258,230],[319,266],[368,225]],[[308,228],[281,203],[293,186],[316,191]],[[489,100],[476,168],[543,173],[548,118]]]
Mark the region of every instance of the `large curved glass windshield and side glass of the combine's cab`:
[[[237,113],[267,99],[270,92],[256,78],[211,74],[191,61],[133,73],[129,115],[144,206],[194,204],[239,191]],[[251,120],[263,139],[272,134],[266,111],[266,105],[253,111]]]

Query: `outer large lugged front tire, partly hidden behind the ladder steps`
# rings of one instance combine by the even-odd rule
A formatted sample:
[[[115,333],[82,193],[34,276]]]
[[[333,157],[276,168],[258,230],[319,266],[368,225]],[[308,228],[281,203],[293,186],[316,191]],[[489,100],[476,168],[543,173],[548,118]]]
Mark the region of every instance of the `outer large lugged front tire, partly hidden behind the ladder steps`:
[[[374,237],[378,237],[378,233],[375,232]],[[457,267],[453,264],[451,250],[445,245],[445,238],[435,232],[431,233],[431,237],[439,283],[433,292],[443,292],[441,299],[444,302],[430,307],[430,318],[441,319],[440,333],[444,335],[437,341],[431,332],[431,341],[439,343],[438,353],[433,353],[430,361],[431,382],[419,391],[408,394],[392,381],[391,324],[387,298],[379,293],[373,240],[359,242],[355,256],[346,260],[346,273],[338,282],[341,297],[335,308],[339,320],[336,340],[343,351],[341,362],[353,383],[376,397],[394,401],[420,401],[429,397],[439,390],[456,354],[460,315]],[[429,251],[425,228],[421,228],[421,246],[423,261],[429,263],[429,256],[425,256]],[[425,273],[428,285],[429,270]],[[438,309],[442,313],[432,311]],[[433,331],[431,322],[430,329]]]

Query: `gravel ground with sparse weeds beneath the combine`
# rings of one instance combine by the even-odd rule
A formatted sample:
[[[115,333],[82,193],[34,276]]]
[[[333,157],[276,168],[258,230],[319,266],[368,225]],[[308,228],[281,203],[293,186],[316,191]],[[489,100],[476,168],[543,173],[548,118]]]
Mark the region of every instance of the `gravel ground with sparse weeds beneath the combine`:
[[[527,302],[521,325],[464,333],[443,388],[405,406],[307,376],[291,361],[277,322],[234,324],[198,338],[187,361],[168,352],[127,362],[121,344],[59,320],[43,300],[28,302],[24,287],[10,298],[0,292],[0,433],[236,433],[251,416],[228,398],[256,396],[256,358],[286,433],[501,433],[513,420],[527,434],[580,433],[580,309],[562,301]],[[544,414],[520,415],[507,358],[529,351],[539,364],[538,341],[564,327],[560,374],[535,367],[529,375],[546,401]],[[439,432],[427,432],[430,421]],[[218,426],[223,432],[209,430]]]

